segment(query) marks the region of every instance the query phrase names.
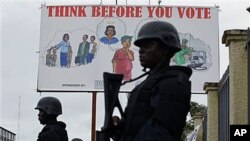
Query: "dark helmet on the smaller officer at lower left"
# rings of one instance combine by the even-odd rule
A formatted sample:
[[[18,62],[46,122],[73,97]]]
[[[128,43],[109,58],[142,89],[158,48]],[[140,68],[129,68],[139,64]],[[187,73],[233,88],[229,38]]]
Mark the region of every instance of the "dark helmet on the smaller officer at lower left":
[[[61,115],[62,114],[61,102],[55,97],[43,97],[43,98],[41,98],[38,101],[35,109],[43,110],[48,115]]]

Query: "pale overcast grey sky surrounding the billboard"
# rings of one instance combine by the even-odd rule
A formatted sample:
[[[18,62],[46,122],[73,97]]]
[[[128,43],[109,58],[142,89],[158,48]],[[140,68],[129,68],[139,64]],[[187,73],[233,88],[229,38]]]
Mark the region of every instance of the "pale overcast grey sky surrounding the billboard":
[[[63,104],[63,115],[69,139],[79,137],[90,141],[91,93],[37,93],[37,75],[40,38],[39,7],[60,4],[100,4],[100,0],[1,0],[0,2],[0,126],[17,134],[17,141],[32,141],[42,125],[34,110],[41,97],[53,95]],[[137,5],[157,5],[158,0],[137,0]],[[115,0],[102,0],[102,4],[115,5]],[[119,5],[134,5],[134,0],[118,0]],[[220,76],[229,64],[228,48],[221,43],[225,30],[250,26],[249,0],[162,0],[161,5],[219,6]],[[121,97],[126,97],[124,94]],[[206,105],[205,95],[192,97]],[[125,105],[122,101],[122,105]],[[97,123],[103,124],[103,95],[97,94]]]

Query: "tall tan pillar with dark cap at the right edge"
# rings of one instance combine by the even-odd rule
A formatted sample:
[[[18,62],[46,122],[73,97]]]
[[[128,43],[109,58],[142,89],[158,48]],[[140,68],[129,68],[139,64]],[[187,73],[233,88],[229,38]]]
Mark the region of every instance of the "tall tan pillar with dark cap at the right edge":
[[[222,43],[229,47],[229,122],[247,124],[247,31],[226,30]]]

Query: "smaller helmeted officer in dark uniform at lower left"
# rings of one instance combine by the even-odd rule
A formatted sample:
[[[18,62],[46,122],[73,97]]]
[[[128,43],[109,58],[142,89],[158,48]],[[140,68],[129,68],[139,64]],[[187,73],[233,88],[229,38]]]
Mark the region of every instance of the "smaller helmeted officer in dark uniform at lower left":
[[[39,110],[38,120],[45,125],[37,141],[68,141],[66,124],[57,121],[57,116],[62,114],[62,105],[57,98],[43,97],[35,109]]]

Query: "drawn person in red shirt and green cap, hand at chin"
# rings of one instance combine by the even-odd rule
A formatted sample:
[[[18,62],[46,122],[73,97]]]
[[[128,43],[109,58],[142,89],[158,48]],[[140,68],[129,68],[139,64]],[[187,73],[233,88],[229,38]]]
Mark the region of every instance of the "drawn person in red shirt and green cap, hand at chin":
[[[121,37],[122,48],[115,51],[112,59],[113,72],[123,74],[123,80],[130,80],[134,61],[134,52],[130,50],[132,36],[124,35]]]

